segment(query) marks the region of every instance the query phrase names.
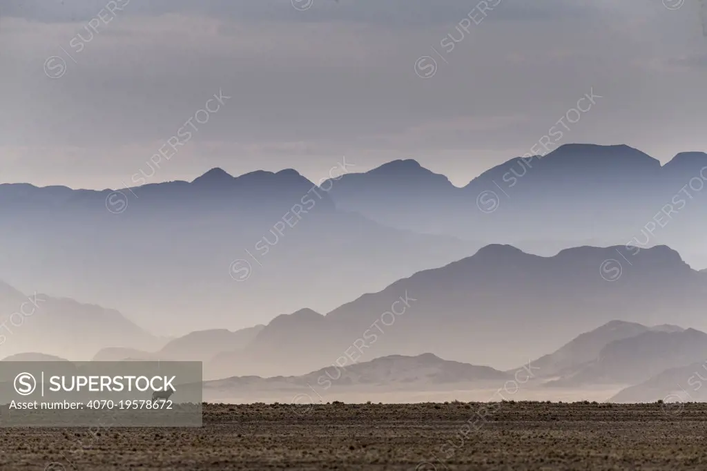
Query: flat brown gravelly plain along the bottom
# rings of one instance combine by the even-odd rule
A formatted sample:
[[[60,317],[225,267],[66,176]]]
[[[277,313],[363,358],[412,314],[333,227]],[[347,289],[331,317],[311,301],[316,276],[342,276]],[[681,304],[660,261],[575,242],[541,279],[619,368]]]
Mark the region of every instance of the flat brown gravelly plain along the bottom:
[[[704,470],[707,405],[206,405],[196,429],[2,429],[1,470]]]

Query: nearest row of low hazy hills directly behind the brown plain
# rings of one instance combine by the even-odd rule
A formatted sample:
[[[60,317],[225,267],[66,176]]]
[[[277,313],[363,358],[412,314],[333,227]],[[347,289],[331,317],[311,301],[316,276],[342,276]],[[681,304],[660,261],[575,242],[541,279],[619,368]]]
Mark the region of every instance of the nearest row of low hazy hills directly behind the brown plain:
[[[208,356],[205,340],[221,335],[245,340],[244,332],[194,332],[174,339],[161,351],[191,350],[190,359]],[[197,342],[194,342],[197,339]],[[247,342],[247,341],[246,341]],[[204,348],[199,351],[198,345]],[[181,347],[187,347],[182,349]],[[234,344],[223,347],[231,349]],[[213,351],[214,348],[211,348]],[[165,359],[163,354],[141,358],[96,361]],[[123,350],[124,354],[133,351]],[[145,354],[149,355],[149,354]],[[192,356],[194,355],[194,356]],[[218,356],[218,355],[217,355]],[[585,332],[556,351],[509,371],[440,359],[435,354],[389,355],[341,364],[338,361],[300,376],[215,376],[203,383],[204,398],[216,402],[279,401],[298,404],[325,402],[334,398],[410,402],[431,397],[466,400],[606,399],[611,402],[665,402],[703,400],[701,390],[707,375],[707,334],[677,325],[648,327],[636,322],[612,320]],[[171,360],[171,358],[166,358]],[[40,353],[15,354],[2,361],[66,361]],[[212,371],[213,373],[213,371]],[[510,384],[510,386],[509,386]],[[510,388],[510,389],[509,389]],[[522,388],[522,393],[516,395]],[[622,389],[623,388],[623,389]],[[505,390],[506,395],[500,394]],[[428,400],[427,399],[427,400]],[[667,407],[667,406],[666,406]],[[674,405],[670,407],[675,407]]]

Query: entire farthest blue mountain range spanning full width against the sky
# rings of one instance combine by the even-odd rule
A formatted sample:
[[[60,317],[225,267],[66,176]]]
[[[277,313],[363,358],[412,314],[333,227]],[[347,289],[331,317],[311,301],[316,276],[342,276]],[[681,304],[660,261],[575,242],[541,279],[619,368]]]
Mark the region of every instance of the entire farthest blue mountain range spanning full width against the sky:
[[[303,306],[328,312],[489,242],[546,256],[670,245],[707,266],[705,153],[660,165],[628,146],[566,144],[464,187],[411,160],[348,167],[319,186],[291,169],[233,177],[219,168],[103,191],[0,185],[0,279],[175,336],[265,324]]]

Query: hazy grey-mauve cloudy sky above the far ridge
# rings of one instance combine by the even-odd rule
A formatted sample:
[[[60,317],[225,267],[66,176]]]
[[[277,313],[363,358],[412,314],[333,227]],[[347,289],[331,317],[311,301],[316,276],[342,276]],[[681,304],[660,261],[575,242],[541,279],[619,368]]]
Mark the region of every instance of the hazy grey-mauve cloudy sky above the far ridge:
[[[559,144],[665,162],[707,149],[702,2],[488,0],[484,18],[476,0],[0,0],[0,182],[120,187],[219,90],[155,181],[318,179],[346,156],[416,158],[464,185],[592,88]],[[479,24],[455,29],[467,14]]]

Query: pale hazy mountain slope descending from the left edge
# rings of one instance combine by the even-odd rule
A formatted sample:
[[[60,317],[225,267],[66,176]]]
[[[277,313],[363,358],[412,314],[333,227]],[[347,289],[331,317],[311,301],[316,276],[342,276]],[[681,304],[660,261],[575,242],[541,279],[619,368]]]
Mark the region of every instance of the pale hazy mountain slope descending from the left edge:
[[[106,344],[144,347],[157,342],[151,334],[117,310],[54,298],[42,293],[25,295],[0,282],[0,323],[5,354],[42,354],[71,361],[90,359]]]

